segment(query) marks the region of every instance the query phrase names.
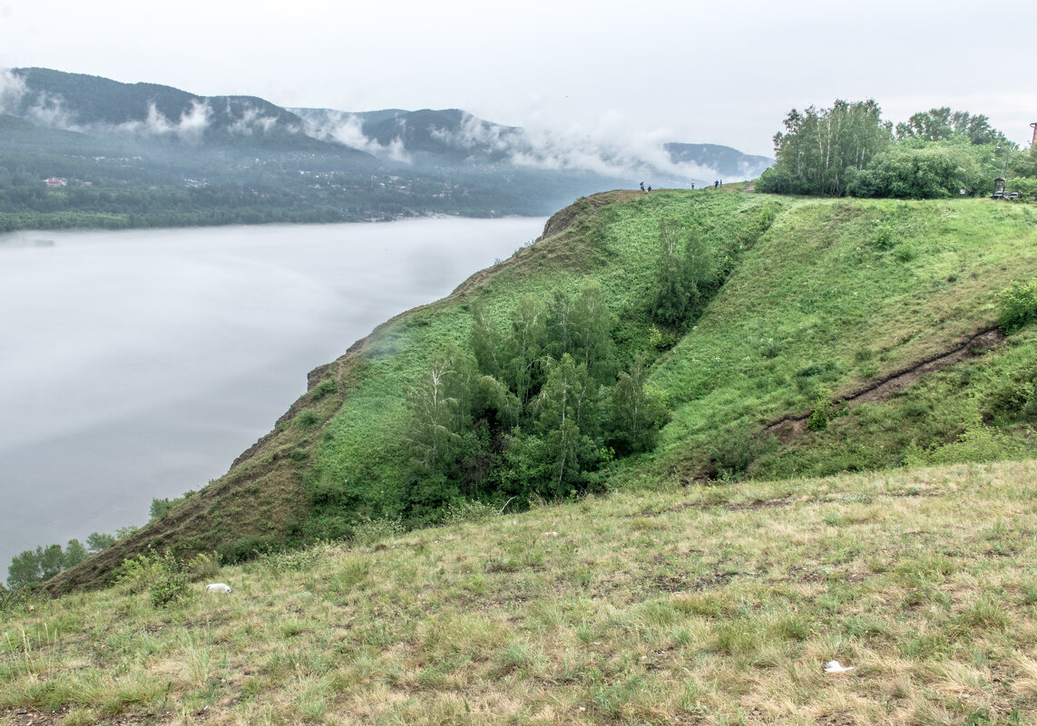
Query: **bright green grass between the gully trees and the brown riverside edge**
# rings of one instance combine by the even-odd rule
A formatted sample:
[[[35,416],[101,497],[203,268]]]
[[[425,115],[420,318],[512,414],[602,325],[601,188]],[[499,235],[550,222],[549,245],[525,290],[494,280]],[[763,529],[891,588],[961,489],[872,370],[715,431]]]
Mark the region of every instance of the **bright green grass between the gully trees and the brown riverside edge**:
[[[448,343],[468,346],[470,295],[478,295],[503,329],[521,295],[548,299],[556,289],[576,294],[587,279],[594,279],[620,320],[618,353],[629,366],[638,350],[651,350],[647,300],[658,221],[696,225],[722,257],[730,258],[742,254],[760,210],[784,204],[736,194],[661,193],[633,199],[598,209],[588,200],[577,202],[577,220],[562,235],[517,251],[467,294],[404,316],[370,342],[347,406],[325,429],[307,474],[312,496],[320,499],[317,516],[326,518],[315,530],[342,534],[357,516],[399,514],[409,463],[400,437],[407,427],[403,395],[437,349]]]

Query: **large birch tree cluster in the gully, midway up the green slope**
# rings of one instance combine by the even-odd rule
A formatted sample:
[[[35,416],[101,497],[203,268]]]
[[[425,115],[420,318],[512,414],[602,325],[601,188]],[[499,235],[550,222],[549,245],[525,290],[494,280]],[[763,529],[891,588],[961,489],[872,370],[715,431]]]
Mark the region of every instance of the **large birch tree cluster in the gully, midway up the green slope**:
[[[593,490],[602,464],[650,449],[665,397],[646,384],[643,358],[618,370],[614,324],[596,282],[546,302],[523,296],[504,329],[475,306],[472,352],[438,354],[408,397],[409,515],[460,497]]]

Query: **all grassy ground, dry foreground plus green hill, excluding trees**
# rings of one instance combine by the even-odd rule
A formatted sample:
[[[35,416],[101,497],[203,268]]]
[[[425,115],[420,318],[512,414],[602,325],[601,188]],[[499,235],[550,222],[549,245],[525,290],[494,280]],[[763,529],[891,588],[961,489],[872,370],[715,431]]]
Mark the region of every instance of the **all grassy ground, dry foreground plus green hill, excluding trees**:
[[[668,223],[719,285],[682,330],[651,321]],[[1037,330],[1004,313],[1037,314],[1035,242],[1032,208],[986,200],[582,199],[49,587],[112,583],[147,547],[223,565],[152,554],[106,590],[8,600],[0,719],[1034,723]],[[407,391],[477,308],[504,329],[523,295],[587,281],[617,366],[646,354],[669,405],[657,446],[606,457],[606,495],[483,489],[408,531],[429,520]]]

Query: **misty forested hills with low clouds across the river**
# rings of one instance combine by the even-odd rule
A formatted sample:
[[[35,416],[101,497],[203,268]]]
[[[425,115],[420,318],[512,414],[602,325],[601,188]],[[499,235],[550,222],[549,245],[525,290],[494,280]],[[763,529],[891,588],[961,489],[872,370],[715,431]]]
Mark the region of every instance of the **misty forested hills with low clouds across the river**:
[[[0,70],[0,232],[542,215],[642,180],[762,168],[733,149],[632,151],[458,109],[289,110],[47,68]]]

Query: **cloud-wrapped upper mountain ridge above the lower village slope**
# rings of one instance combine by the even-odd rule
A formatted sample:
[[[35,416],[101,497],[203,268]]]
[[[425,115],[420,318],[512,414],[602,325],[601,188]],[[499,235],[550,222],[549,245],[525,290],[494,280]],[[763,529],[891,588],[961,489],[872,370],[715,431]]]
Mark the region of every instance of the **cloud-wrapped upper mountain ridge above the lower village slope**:
[[[0,75],[0,113],[49,128],[183,144],[365,153],[421,166],[513,166],[655,177],[677,184],[711,175],[732,181],[754,178],[773,163],[716,144],[595,146],[494,123],[460,109],[286,109],[256,96],[202,96],[159,84],[35,67]]]

